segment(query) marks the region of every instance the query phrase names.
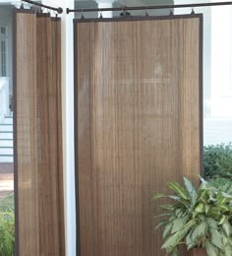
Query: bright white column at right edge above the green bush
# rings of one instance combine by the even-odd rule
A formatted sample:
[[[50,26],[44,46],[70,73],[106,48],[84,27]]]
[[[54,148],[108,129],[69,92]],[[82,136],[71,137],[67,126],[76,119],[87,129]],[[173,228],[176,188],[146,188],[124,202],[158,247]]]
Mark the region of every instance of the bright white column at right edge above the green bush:
[[[221,1],[221,0],[220,0]],[[211,11],[212,117],[232,117],[232,7]]]

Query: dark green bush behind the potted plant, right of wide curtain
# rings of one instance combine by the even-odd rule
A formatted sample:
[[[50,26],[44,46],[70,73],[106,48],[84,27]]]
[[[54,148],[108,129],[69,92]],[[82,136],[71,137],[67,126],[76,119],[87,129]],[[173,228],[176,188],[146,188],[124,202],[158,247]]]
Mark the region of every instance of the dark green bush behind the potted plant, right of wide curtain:
[[[205,178],[232,180],[232,143],[203,147],[203,170]]]

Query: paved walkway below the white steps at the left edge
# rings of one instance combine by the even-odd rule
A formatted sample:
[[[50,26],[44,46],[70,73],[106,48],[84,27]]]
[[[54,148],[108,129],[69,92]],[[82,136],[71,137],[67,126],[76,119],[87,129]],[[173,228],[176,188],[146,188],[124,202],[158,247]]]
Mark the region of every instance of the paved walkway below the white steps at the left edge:
[[[14,191],[14,164],[0,163],[0,198]]]

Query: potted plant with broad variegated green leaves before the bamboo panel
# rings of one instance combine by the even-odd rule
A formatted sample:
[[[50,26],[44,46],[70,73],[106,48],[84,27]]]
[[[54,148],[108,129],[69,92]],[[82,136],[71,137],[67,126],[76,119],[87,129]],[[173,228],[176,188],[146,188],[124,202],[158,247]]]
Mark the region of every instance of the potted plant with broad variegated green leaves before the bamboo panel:
[[[201,179],[196,189],[184,177],[184,186],[168,182],[173,195],[156,194],[153,200],[169,198],[173,204],[162,205],[164,214],[157,225],[163,226],[162,249],[171,256],[179,255],[185,244],[189,255],[228,256],[232,253],[232,191],[223,191]],[[164,220],[163,220],[164,218]]]

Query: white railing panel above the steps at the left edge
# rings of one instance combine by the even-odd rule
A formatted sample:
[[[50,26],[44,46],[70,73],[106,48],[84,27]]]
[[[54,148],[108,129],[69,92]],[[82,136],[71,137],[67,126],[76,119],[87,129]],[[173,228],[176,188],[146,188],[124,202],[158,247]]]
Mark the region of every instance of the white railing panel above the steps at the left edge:
[[[0,122],[9,114],[9,78],[0,77]]]

